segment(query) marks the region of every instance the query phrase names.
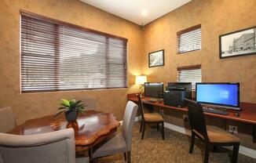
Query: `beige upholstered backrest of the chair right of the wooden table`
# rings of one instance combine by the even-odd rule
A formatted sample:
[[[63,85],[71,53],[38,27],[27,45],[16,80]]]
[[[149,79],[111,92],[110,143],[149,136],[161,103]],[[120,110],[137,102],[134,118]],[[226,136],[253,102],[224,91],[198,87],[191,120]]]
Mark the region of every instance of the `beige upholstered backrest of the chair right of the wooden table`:
[[[132,101],[128,101],[126,104],[125,114],[123,116],[122,134],[126,141],[127,150],[131,150],[132,138],[133,138],[133,125],[137,114],[137,104]]]

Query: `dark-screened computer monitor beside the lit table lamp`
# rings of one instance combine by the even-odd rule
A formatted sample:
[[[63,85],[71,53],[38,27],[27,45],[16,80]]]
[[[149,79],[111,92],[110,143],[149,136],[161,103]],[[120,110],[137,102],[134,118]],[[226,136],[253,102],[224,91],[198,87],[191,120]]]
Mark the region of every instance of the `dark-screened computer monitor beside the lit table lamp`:
[[[163,82],[145,82],[144,96],[163,98]]]

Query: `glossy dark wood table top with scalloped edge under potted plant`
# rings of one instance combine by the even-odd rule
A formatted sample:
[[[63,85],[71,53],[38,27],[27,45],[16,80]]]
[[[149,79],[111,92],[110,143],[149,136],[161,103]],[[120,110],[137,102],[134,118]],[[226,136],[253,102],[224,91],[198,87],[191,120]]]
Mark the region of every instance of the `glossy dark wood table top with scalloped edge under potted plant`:
[[[119,127],[120,123],[112,113],[102,113],[96,110],[86,110],[79,114],[76,122],[68,123],[64,114],[54,118],[53,115],[35,118],[18,125],[9,133],[16,135],[33,135],[73,128],[75,130],[75,150],[89,150],[100,143]]]

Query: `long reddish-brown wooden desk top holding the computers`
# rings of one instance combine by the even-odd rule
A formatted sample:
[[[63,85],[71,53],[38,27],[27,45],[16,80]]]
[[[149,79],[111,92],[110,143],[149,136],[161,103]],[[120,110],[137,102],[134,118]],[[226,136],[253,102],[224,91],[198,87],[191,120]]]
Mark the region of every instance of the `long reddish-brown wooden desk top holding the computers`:
[[[131,93],[127,95],[128,100],[137,102],[137,96],[136,93]],[[144,97],[142,100],[149,100],[150,98]],[[171,107],[168,105],[163,104],[163,101],[160,102],[155,102],[155,103],[150,103],[144,101],[143,103],[149,103],[153,106],[157,107],[163,107],[166,109],[172,109],[172,110],[179,110],[179,111],[188,111],[188,107]],[[216,118],[224,118],[224,119],[229,119],[233,121],[240,121],[244,123],[250,123],[256,125],[256,103],[240,103],[240,108],[242,109],[240,112],[240,116],[236,117],[235,113],[237,112],[236,110],[229,110],[228,115],[222,115],[222,114],[214,114],[214,113],[204,113],[207,116],[210,117],[216,117]]]

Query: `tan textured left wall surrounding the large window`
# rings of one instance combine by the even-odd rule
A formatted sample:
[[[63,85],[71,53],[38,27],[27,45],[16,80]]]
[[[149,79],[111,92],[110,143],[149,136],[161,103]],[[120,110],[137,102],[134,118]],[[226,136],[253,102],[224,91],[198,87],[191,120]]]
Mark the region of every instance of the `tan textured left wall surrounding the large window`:
[[[128,38],[128,89],[20,93],[20,9]],[[141,27],[79,0],[2,0],[0,3],[0,107],[13,107],[18,123],[55,113],[61,98],[97,98],[99,110],[123,118],[126,93],[137,91],[141,73]]]

